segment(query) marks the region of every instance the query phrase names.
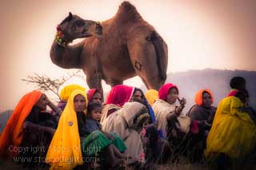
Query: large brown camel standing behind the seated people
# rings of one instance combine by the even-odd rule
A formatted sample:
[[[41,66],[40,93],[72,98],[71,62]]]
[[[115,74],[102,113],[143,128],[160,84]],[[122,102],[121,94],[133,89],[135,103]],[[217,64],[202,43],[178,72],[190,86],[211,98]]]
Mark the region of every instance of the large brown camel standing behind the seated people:
[[[64,69],[82,69],[90,89],[102,89],[102,80],[113,87],[136,75],[147,89],[158,90],[166,81],[166,42],[130,2],[122,2],[117,14],[100,25],[70,13],[57,30],[51,60]],[[69,45],[77,38],[84,39]]]

